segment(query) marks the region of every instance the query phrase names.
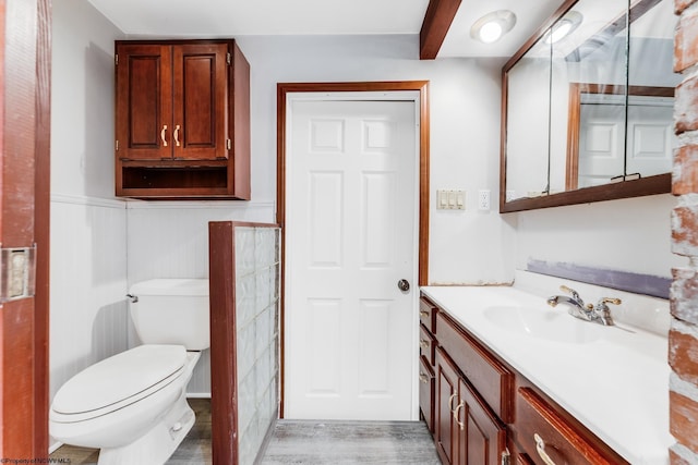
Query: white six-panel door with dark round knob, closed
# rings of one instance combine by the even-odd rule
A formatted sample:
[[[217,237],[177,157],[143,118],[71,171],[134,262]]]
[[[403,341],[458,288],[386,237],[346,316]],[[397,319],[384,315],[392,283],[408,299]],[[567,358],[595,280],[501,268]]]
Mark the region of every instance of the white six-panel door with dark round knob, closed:
[[[416,106],[289,106],[286,418],[414,419]]]

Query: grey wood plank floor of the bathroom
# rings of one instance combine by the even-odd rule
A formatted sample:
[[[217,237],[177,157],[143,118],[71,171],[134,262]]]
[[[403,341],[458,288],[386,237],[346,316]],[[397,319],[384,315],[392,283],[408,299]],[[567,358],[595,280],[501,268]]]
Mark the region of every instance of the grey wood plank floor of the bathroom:
[[[167,465],[210,464],[210,401],[190,399],[196,424]],[[51,458],[71,465],[95,465],[95,449],[63,445]],[[261,465],[440,465],[436,449],[422,421],[279,420]],[[124,464],[127,465],[127,464]]]

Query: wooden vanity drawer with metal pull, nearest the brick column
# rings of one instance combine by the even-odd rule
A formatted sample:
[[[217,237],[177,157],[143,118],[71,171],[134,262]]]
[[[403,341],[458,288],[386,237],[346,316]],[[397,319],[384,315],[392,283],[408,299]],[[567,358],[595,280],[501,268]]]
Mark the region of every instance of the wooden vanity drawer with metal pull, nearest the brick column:
[[[601,440],[575,428],[530,388],[519,388],[516,399],[517,442],[537,464],[545,455],[556,464],[625,464]],[[604,450],[605,449],[607,450]]]

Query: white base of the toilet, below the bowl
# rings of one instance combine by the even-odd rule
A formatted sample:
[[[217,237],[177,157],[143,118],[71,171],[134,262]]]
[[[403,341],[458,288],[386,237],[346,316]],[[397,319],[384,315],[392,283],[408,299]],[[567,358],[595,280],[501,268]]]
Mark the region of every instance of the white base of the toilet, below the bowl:
[[[194,411],[185,391],[172,408],[145,435],[122,448],[100,449],[97,465],[164,464],[177,450],[194,425]]]

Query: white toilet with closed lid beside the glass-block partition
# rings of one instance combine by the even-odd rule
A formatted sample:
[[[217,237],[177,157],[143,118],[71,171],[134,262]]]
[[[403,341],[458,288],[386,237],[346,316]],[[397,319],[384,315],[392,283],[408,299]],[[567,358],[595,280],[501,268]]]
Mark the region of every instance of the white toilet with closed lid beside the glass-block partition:
[[[156,279],[130,289],[143,345],[106,358],[56,393],[49,432],[100,449],[99,465],[163,464],[194,424],[186,384],[209,346],[208,280]]]

